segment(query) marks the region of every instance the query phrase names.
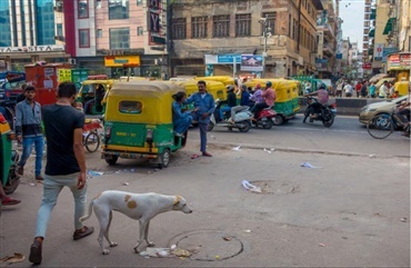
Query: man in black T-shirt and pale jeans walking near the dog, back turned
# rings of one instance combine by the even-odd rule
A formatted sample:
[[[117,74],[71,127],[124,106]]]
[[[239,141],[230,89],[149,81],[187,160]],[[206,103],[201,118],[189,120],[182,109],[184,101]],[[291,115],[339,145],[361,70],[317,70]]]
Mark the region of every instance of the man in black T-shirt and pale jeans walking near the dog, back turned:
[[[43,197],[37,216],[34,241],[30,247],[30,262],[39,265],[42,260],[42,244],[51,211],[64,186],[74,198],[73,240],[91,235],[92,227],[83,226],[87,202],[86,156],[82,145],[84,115],[73,107],[76,85],[62,82],[57,90],[58,101],[43,108],[44,133],[47,137],[47,163]]]

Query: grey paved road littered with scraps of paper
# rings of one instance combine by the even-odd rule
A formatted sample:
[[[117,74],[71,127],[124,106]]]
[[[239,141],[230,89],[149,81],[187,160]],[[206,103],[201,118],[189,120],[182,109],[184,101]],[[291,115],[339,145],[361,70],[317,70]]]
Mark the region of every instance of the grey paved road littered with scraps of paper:
[[[102,256],[97,234],[71,239],[73,204],[66,189],[51,217],[42,266],[409,267],[409,140],[394,136],[377,141],[353,122],[339,118],[324,129],[295,120],[249,133],[217,129],[209,145],[214,156],[198,159],[191,159],[199,148],[198,130],[192,129],[187,148],[163,170],[123,159],[108,167],[98,153],[87,153],[89,169],[104,172],[89,179],[89,199],[107,189],[183,196],[194,212],[159,215],[150,238],[157,247],[177,244],[198,252],[188,259],[136,255],[138,222],[116,212],[110,237],[119,246]],[[344,123],[353,129],[344,130]],[[233,151],[234,145],[243,147]],[[303,168],[302,162],[318,168]],[[2,209],[1,257],[29,254],[42,187],[27,175],[13,193],[22,204]],[[242,180],[262,193],[244,190]],[[94,216],[87,224],[98,229]]]

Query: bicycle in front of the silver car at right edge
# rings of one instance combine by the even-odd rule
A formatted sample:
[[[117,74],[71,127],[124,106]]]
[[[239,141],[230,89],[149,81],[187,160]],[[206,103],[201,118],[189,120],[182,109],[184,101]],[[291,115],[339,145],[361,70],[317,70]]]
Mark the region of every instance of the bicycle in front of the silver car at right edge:
[[[404,129],[405,136],[410,137],[410,125],[402,123],[397,115],[395,107],[392,109],[391,115],[377,115],[367,123],[368,133],[375,139],[385,139],[395,128]]]

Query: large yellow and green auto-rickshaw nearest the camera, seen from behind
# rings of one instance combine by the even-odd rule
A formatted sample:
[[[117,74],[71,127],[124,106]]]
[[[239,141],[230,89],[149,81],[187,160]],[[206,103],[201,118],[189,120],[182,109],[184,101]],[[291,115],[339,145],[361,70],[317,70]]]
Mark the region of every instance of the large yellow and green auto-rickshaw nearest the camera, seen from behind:
[[[108,92],[104,112],[102,158],[114,165],[118,158],[147,158],[166,168],[170,153],[186,146],[174,136],[172,96],[184,91],[171,82],[116,82]]]

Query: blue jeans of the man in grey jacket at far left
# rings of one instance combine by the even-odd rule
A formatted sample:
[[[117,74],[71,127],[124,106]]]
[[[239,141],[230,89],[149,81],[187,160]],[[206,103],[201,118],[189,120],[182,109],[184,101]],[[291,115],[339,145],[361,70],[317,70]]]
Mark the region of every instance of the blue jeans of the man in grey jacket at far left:
[[[24,167],[27,159],[29,159],[31,155],[32,145],[34,143],[36,149],[36,168],[34,173],[36,176],[41,175],[41,165],[42,165],[42,158],[43,158],[43,150],[44,150],[44,139],[43,136],[37,136],[37,137],[23,137],[23,153],[21,156],[19,166]]]

